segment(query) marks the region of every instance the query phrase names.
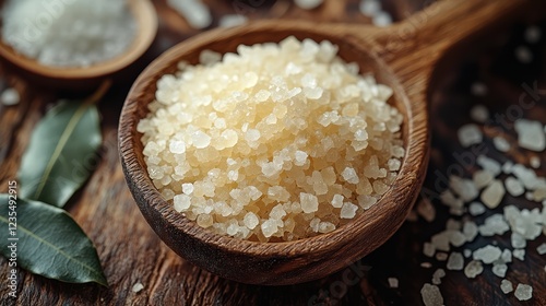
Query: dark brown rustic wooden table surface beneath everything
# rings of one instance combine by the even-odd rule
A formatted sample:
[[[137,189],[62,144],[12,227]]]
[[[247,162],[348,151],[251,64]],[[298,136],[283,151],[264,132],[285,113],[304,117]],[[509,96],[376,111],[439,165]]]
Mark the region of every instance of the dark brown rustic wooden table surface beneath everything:
[[[292,1],[206,1],[215,16],[238,10],[251,19],[308,19],[313,21],[334,21],[369,23],[369,19],[358,13],[359,1],[325,1],[321,9],[302,11]],[[263,2],[260,8],[252,3]],[[396,19],[411,17],[427,1],[404,0],[384,1],[384,7]],[[448,210],[437,205],[437,219],[428,223],[423,219],[406,222],[401,231],[384,246],[370,256],[348,268],[314,282],[292,286],[256,286],[235,283],[217,278],[194,267],[165,246],[147,225],[136,208],[123,178],[118,160],[117,122],[123,98],[138,72],[174,44],[198,34],[165,4],[165,0],[154,2],[161,17],[159,32],[154,46],[134,68],[132,78],[115,84],[102,101],[99,108],[104,143],[96,169],[85,187],[79,191],[68,205],[74,220],[87,233],[97,247],[104,267],[108,289],[95,284],[67,284],[19,271],[17,299],[8,298],[5,285],[0,287],[1,305],[420,305],[420,289],[429,283],[437,268],[446,263],[423,255],[423,243],[443,228]],[[544,11],[544,10],[543,10]],[[531,21],[542,21],[546,33],[545,16],[531,12],[520,22],[506,25],[486,39],[473,44],[454,59],[446,62],[447,73],[431,92],[434,153],[425,195],[435,196],[438,173],[453,165],[453,152],[463,152],[456,144],[456,128],[468,122],[468,109],[479,102],[488,105],[498,114],[518,101],[522,93],[521,84],[537,82],[546,89],[546,47],[536,47],[537,58],[531,66],[522,66],[513,60],[511,51],[521,39],[522,25]],[[405,38],[401,38],[405,39]],[[483,80],[489,87],[488,98],[476,98],[468,93],[475,80]],[[15,86],[22,93],[17,106],[0,106],[0,191],[8,189],[8,181],[16,176],[21,156],[28,143],[29,134],[36,122],[44,116],[48,106],[67,93],[39,89],[11,73],[2,72],[0,90]],[[535,108],[526,111],[526,117],[546,121],[546,96],[541,94]],[[486,131],[487,133],[487,131]],[[513,141],[514,132],[506,131]],[[490,141],[486,145],[491,146]],[[492,150],[492,149],[491,149]],[[525,161],[525,155],[517,150],[507,155],[509,158]],[[546,175],[546,156],[542,158],[541,175]],[[505,156],[506,157],[506,156]],[[499,158],[505,158],[500,156]],[[529,156],[527,156],[529,157]],[[468,172],[474,170],[472,167]],[[434,200],[436,203],[437,201]],[[503,204],[513,203],[522,208],[536,207],[524,200],[507,197]],[[501,212],[499,209],[496,212]],[[490,213],[489,213],[490,214]],[[483,222],[484,216],[475,221]],[[465,248],[475,249],[495,240],[501,247],[510,246],[510,236],[503,235],[486,240],[478,238]],[[513,282],[532,284],[533,298],[519,302],[513,294],[500,291],[501,279],[494,275],[490,267],[474,280],[468,280],[462,271],[447,271],[440,291],[447,305],[546,305],[546,258],[536,252],[536,247],[545,242],[544,235],[527,244],[525,261],[515,260],[509,266],[507,278]],[[423,268],[430,262],[431,268]],[[0,258],[0,283],[9,273],[5,259]],[[399,287],[390,287],[388,278],[396,278]],[[138,293],[131,289],[142,283],[144,289]]]

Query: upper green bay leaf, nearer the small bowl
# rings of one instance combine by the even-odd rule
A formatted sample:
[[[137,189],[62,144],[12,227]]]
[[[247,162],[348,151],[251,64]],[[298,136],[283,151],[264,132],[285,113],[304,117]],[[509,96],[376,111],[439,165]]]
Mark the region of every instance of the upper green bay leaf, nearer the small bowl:
[[[102,143],[90,102],[61,102],[38,122],[19,169],[21,197],[62,208],[87,180]]]

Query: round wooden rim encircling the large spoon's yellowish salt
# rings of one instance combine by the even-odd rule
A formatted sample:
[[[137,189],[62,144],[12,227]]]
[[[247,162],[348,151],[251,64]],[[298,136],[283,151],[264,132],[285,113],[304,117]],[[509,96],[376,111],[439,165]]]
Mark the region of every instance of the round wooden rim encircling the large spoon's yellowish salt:
[[[275,25],[275,27],[272,27]],[[363,26],[366,28],[368,26]],[[313,237],[307,237],[293,242],[278,242],[278,243],[260,243],[260,242],[250,242],[245,239],[239,239],[235,237],[230,237],[227,235],[219,235],[213,233],[210,229],[203,228],[197,225],[195,222],[190,221],[182,216],[181,213],[178,213],[174,210],[173,205],[169,204],[159,191],[153,186],[147,172],[138,163],[138,157],[135,153],[135,146],[133,145],[133,139],[131,136],[139,136],[135,140],[140,142],[141,134],[136,132],[135,128],[138,125],[138,120],[140,118],[135,118],[138,113],[138,104],[139,96],[143,93],[143,89],[147,87],[152,81],[157,80],[165,69],[165,61],[177,62],[183,58],[185,54],[188,54],[188,50],[203,49],[201,46],[207,45],[210,43],[215,42],[219,33],[223,33],[223,37],[229,37],[230,35],[236,35],[238,33],[251,33],[251,32],[262,32],[269,28],[281,28],[280,31],[285,31],[286,28],[305,31],[312,35],[322,36],[324,39],[333,40],[335,36],[329,36],[322,31],[318,31],[316,25],[312,23],[301,23],[301,22],[283,22],[283,24],[278,24],[277,21],[258,21],[253,22],[252,26],[245,25],[238,26],[234,28],[223,30],[216,28],[198,36],[191,37],[178,45],[171,47],[163,55],[161,55],[156,60],[154,60],[136,79],[131,87],[128,97],[124,102],[123,108],[120,115],[120,125],[119,125],[119,151],[121,163],[124,168],[128,169],[126,172],[126,178],[129,184],[134,184],[134,187],[138,189],[136,193],[133,197],[135,199],[142,198],[145,200],[145,204],[155,210],[163,217],[166,215],[179,215],[177,220],[166,220],[171,225],[174,225],[177,229],[181,231],[185,235],[190,235],[191,237],[204,242],[207,245],[212,245],[217,249],[228,250],[233,254],[240,255],[250,255],[254,257],[285,257],[285,256],[296,256],[299,254],[307,254],[313,250],[318,250],[319,248],[336,248],[342,247],[343,245],[349,244],[352,237],[355,235],[361,235],[366,233],[368,227],[373,227],[373,225],[378,222],[382,222],[383,220],[379,220],[373,217],[373,215],[378,212],[378,210],[389,210],[391,212],[402,213],[403,220],[410,213],[412,204],[404,205],[403,203],[394,203],[391,199],[406,199],[406,202],[413,203],[417,197],[418,190],[420,189],[420,184],[423,183],[423,177],[419,177],[418,174],[419,168],[416,166],[420,166],[420,168],[427,167],[428,162],[428,120],[414,120],[418,113],[426,113],[426,107],[420,105],[419,103],[411,103],[403,91],[402,85],[395,81],[396,76],[393,76],[395,83],[389,84],[396,92],[397,98],[401,98],[400,102],[405,106],[405,121],[404,125],[407,125],[405,130],[407,131],[407,138],[405,143],[405,155],[403,157],[403,163],[401,169],[399,172],[399,176],[396,177],[394,184],[390,187],[389,191],[384,193],[381,199],[370,209],[357,215],[355,219],[349,221],[347,224],[337,227],[335,231],[320,234]],[[376,31],[373,27],[369,27],[370,31]],[[286,36],[289,36],[287,34]],[[330,38],[331,37],[331,38]],[[335,38],[336,40],[343,39],[340,37]],[[353,40],[346,40],[347,44],[353,45],[354,47],[361,49],[367,52],[366,46],[355,46]],[[334,43],[335,44],[335,43]],[[359,44],[367,44],[365,42],[359,42]],[[368,56],[370,56],[368,54]],[[373,58],[373,56],[370,56]],[[384,63],[381,59],[376,58],[377,64],[381,68],[384,68],[389,74],[393,74],[390,68]],[[165,74],[165,73],[163,73]],[[163,75],[161,74],[161,75]],[[152,86],[156,86],[156,84],[152,84]],[[149,102],[147,102],[149,103]],[[146,103],[146,105],[147,105]],[[425,104],[425,103],[423,103]],[[133,108],[134,107],[134,108]],[[132,111],[130,113],[130,109]],[[402,109],[400,109],[402,110]],[[147,113],[147,110],[146,110]],[[428,114],[420,114],[419,116],[424,116],[427,119]],[[424,140],[412,141],[414,138],[418,138],[417,133],[424,133]],[[140,152],[140,154],[142,154]],[[410,158],[408,156],[412,156]],[[128,164],[128,162],[130,164]],[[135,172],[134,172],[135,170]],[[405,178],[406,183],[402,183],[401,178]],[[147,191],[151,191],[149,193]],[[138,197],[139,196],[139,197]],[[142,196],[142,197],[140,197]],[[401,197],[402,196],[402,197]],[[139,201],[139,200],[136,200]],[[143,204],[143,203],[139,203]],[[141,209],[142,211],[142,209]],[[144,213],[144,211],[143,211]],[[166,219],[166,217],[165,217]],[[387,227],[394,227],[390,233],[390,235],[384,237],[385,242],[392,234],[394,234],[395,229],[397,229],[402,223],[400,224],[388,224]],[[211,238],[213,237],[213,238]]]

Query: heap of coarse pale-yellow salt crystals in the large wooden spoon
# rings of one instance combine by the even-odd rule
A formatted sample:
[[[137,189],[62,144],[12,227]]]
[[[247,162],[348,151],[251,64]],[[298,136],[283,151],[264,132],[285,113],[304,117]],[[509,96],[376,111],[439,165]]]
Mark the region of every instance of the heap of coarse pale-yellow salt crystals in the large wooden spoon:
[[[392,90],[330,42],[237,51],[164,75],[138,125],[149,175],[175,210],[277,242],[332,232],[375,205],[405,154]]]

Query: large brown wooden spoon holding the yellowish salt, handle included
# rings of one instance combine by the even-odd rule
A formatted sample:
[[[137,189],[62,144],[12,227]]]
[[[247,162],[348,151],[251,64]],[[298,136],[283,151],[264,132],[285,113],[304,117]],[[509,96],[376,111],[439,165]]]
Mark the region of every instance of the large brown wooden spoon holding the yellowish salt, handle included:
[[[129,188],[150,225],[187,260],[244,283],[282,285],[333,273],[383,244],[402,225],[419,193],[429,153],[427,90],[438,59],[448,48],[525,4],[525,0],[440,1],[388,28],[363,25],[264,21],[215,30],[188,39],[155,60],[133,84],[121,113],[119,150]],[[154,188],[143,160],[136,125],[154,99],[156,82],[197,63],[204,49],[235,51],[239,44],[280,42],[294,35],[328,39],[340,56],[394,90],[392,103],[404,114],[406,155],[390,190],[351,223],[316,237],[256,243],[211,233],[177,213]],[[356,271],[357,273],[359,271]]]

